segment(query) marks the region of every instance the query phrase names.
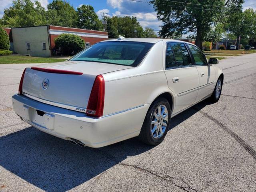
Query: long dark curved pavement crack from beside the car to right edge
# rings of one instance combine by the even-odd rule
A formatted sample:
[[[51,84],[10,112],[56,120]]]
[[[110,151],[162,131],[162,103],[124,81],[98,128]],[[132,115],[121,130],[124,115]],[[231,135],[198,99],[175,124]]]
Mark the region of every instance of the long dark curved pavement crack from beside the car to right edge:
[[[203,114],[204,116],[206,116],[207,118],[215,122],[216,124],[218,124],[221,128],[223,128],[223,130],[225,130],[228,134],[230,134],[230,136],[232,136],[241,146],[243,146],[244,149],[254,158],[254,160],[256,160],[256,151],[248,143],[246,143],[242,138],[240,138],[237,134],[235,134],[232,130],[230,130],[230,128],[228,128],[227,126],[225,126],[224,124],[222,124],[216,118],[210,116],[209,114],[203,111],[200,111],[200,109],[196,107],[192,107],[192,108],[194,110],[197,110],[198,112],[200,112],[201,114]]]

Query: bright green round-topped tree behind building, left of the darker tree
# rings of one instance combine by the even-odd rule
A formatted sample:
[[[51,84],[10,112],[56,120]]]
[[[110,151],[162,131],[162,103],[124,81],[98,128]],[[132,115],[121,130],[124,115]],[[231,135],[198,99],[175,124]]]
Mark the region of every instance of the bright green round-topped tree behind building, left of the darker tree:
[[[68,2],[62,0],[53,0],[47,6],[48,11],[46,18],[48,24],[64,26],[64,27],[76,27],[78,20],[76,10]]]

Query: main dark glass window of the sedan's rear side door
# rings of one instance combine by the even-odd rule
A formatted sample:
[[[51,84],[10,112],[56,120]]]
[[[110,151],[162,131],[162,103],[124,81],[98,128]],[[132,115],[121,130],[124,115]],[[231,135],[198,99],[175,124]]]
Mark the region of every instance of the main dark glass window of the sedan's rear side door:
[[[174,52],[176,66],[192,65],[190,55],[184,43],[170,43]]]

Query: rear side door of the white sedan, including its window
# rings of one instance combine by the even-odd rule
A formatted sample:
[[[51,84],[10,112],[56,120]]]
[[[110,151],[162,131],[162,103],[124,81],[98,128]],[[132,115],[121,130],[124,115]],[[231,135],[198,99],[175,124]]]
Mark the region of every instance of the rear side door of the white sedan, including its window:
[[[166,44],[166,68],[164,70],[168,86],[175,94],[176,104],[173,114],[192,105],[198,93],[199,77],[192,64],[190,53],[184,43]]]

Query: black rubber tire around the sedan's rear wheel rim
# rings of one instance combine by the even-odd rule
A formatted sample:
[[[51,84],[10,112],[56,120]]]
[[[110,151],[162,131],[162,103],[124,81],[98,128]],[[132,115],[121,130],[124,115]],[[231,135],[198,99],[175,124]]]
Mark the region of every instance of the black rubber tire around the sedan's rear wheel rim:
[[[152,135],[152,118],[154,118],[154,112],[157,110],[158,106],[160,106],[160,105],[166,106],[166,109],[168,111],[168,118],[166,117],[166,119],[168,119],[168,121],[167,121],[167,126],[166,126],[164,132],[162,133],[162,135],[160,136],[160,138],[154,138],[154,136]],[[140,141],[142,141],[146,144],[149,144],[149,145],[160,144],[164,140],[164,137],[166,136],[166,134],[168,132],[168,128],[170,125],[170,118],[171,118],[171,108],[170,108],[169,102],[165,98],[156,99],[151,104],[151,106],[146,114],[144,123],[140,130],[140,135],[138,136]]]

